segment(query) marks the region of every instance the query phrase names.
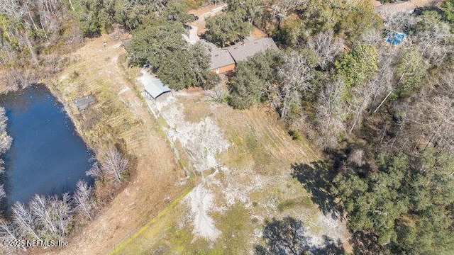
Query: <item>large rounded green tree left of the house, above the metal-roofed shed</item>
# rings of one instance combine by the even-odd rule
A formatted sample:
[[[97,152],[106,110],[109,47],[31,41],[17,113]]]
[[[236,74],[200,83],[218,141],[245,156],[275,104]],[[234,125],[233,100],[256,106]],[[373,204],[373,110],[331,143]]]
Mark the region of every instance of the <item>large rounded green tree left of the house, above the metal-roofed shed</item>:
[[[171,89],[209,87],[215,77],[208,71],[208,50],[200,42],[189,45],[183,32],[179,23],[148,24],[135,30],[127,49],[130,64],[150,65]]]

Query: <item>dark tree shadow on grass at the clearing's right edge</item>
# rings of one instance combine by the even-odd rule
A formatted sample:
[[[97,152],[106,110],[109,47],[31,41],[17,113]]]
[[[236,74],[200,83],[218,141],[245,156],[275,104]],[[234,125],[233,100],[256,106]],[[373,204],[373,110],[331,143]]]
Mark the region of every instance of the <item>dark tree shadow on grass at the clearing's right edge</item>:
[[[339,219],[343,214],[330,193],[331,183],[335,174],[325,161],[311,164],[292,164],[292,176],[296,178],[311,194],[311,200],[319,205],[324,215]]]

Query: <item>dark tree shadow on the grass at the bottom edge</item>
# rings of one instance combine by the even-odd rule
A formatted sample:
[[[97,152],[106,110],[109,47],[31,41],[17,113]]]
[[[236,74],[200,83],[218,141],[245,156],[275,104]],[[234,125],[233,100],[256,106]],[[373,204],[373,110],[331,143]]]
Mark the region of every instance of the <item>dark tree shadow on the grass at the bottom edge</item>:
[[[311,244],[311,237],[305,234],[303,222],[289,216],[268,222],[263,229],[263,238],[265,245],[255,246],[257,255],[345,254],[341,242],[335,242],[327,236],[323,236],[320,246]]]

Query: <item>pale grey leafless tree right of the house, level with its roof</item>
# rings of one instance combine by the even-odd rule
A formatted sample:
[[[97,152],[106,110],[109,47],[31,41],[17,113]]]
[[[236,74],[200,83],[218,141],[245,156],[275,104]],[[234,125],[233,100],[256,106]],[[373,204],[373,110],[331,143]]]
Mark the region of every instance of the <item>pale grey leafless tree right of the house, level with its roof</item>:
[[[328,64],[333,62],[334,57],[343,50],[343,40],[334,38],[333,30],[328,30],[311,38],[307,42],[307,47],[314,50],[317,62],[324,70]]]

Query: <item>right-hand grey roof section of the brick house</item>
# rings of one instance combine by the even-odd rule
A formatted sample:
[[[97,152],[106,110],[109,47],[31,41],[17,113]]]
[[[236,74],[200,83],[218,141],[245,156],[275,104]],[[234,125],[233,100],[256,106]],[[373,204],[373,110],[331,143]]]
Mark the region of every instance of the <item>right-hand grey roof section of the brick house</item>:
[[[248,57],[255,55],[258,52],[262,52],[268,49],[278,50],[275,41],[272,38],[259,38],[255,40],[244,40],[238,42],[236,45],[232,45],[224,48],[230,52],[235,62],[247,60]]]

